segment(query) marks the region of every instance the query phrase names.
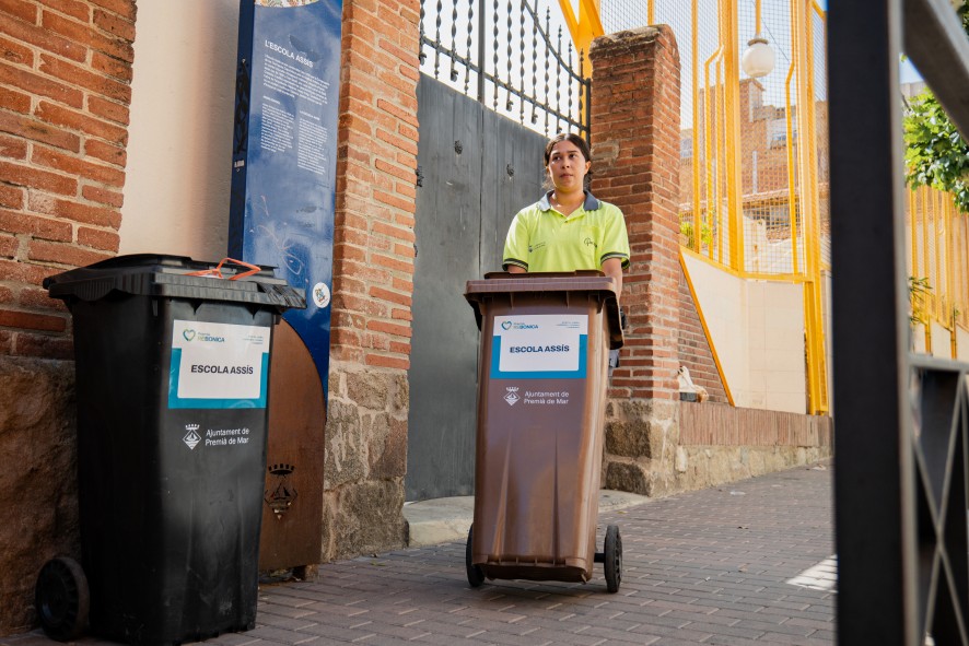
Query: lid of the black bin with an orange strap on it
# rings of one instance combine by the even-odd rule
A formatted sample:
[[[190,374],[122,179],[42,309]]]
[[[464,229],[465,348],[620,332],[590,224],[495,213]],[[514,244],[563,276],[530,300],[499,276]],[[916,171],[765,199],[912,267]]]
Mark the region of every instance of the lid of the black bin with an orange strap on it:
[[[48,277],[44,279],[44,286],[51,298],[61,298],[69,306],[77,301],[98,301],[118,292],[187,301],[250,303],[280,313],[306,307],[304,293],[276,278],[272,267],[260,266],[259,271],[238,280],[230,279],[249,271],[248,268],[225,263],[221,267],[224,278],[191,275],[212,270],[217,265],[186,256],[131,254]]]

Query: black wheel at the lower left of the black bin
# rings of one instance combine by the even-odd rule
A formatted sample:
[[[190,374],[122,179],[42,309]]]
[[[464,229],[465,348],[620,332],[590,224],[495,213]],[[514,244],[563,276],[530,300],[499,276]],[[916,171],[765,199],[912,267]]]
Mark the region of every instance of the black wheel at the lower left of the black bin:
[[[34,603],[40,627],[57,642],[78,638],[87,624],[91,595],[81,565],[68,556],[51,559],[37,575]]]

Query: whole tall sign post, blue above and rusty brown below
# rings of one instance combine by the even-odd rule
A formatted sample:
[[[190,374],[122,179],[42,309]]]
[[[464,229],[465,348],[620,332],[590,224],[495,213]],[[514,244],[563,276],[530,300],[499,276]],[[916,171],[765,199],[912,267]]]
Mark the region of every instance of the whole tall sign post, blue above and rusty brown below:
[[[260,572],[319,562],[342,0],[241,0],[229,255],[306,309],[275,334]]]

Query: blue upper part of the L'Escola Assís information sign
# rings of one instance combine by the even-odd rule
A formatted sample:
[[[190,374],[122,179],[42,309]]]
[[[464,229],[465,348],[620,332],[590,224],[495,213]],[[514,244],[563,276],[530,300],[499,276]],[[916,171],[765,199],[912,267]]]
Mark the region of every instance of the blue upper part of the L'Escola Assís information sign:
[[[283,318],[329,372],[342,0],[241,0],[229,255],[306,291]]]

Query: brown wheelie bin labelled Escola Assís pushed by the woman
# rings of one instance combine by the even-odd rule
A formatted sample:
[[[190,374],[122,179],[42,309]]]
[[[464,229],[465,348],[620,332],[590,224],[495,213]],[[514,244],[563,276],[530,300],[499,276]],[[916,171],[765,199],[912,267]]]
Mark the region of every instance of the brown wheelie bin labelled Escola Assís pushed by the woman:
[[[481,344],[468,582],[587,582],[619,589],[622,541],[596,552],[609,350],[622,345],[612,279],[598,271],[469,281]]]

